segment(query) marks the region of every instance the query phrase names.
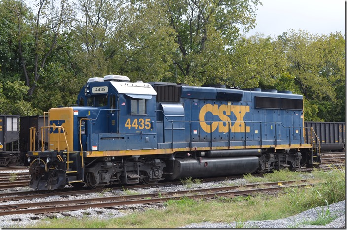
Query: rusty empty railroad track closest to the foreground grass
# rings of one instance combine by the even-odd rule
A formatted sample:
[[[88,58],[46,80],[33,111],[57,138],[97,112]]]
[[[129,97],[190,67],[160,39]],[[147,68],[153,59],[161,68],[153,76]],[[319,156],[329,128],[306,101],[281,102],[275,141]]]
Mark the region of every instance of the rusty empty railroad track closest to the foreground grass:
[[[298,185],[298,183],[300,184]],[[298,180],[263,183],[261,186],[265,186],[265,188],[259,188],[259,186],[259,184],[243,185],[242,190],[240,190],[240,186],[227,186],[218,188],[192,189],[129,196],[98,197],[91,199],[49,201],[40,203],[35,202],[16,203],[8,205],[3,204],[0,205],[0,215],[2,216],[27,213],[42,214],[52,212],[75,211],[88,208],[109,208],[113,206],[123,206],[130,204],[152,204],[162,203],[168,200],[177,200],[181,199],[182,197],[188,197],[192,199],[213,199],[215,197],[232,197],[238,195],[248,195],[258,192],[276,192],[283,188],[312,186],[312,184],[307,184],[306,180]]]

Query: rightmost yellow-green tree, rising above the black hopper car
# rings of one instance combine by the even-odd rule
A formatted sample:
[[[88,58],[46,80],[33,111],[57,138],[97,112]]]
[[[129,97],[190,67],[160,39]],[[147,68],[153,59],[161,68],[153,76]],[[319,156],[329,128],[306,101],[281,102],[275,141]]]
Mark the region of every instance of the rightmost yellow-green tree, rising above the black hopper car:
[[[306,110],[311,112],[305,115],[306,119],[337,121],[345,117],[343,36],[340,33],[319,36],[291,30],[278,36],[277,42],[285,47],[287,71],[295,76],[294,81],[307,100]]]

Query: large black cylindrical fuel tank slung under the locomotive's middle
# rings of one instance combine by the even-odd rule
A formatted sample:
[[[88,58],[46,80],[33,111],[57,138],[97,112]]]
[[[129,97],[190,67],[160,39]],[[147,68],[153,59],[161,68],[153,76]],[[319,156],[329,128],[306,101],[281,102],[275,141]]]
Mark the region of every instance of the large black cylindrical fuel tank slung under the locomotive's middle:
[[[174,160],[174,171],[168,179],[185,177],[228,176],[253,173],[259,166],[259,158],[217,157],[217,158],[184,158]]]

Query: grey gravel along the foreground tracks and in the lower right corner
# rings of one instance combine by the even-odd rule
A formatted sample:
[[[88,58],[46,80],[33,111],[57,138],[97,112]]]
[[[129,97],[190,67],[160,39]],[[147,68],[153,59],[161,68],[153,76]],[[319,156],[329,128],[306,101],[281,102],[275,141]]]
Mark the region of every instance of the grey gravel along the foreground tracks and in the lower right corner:
[[[33,200],[21,200],[21,201],[7,201],[2,203],[1,205],[10,205],[15,203],[25,203],[25,202],[46,202],[46,201],[59,201],[59,200],[67,200],[67,199],[86,199],[100,196],[115,196],[115,195],[127,195],[127,192],[135,192],[137,194],[144,193],[164,193],[170,191],[178,191],[178,190],[186,190],[194,189],[194,188],[210,188],[210,187],[218,187],[223,186],[225,183],[233,183],[234,185],[244,185],[247,182],[244,179],[234,179],[228,181],[218,182],[204,182],[190,185],[191,187],[187,187],[185,185],[168,185],[168,186],[150,186],[147,188],[138,188],[132,189],[131,191],[125,189],[115,189],[110,191],[104,191],[102,193],[88,193],[88,194],[74,194],[69,197],[60,197],[60,196],[51,196],[48,198],[40,198]],[[4,192],[17,192],[17,191],[27,191],[32,190],[28,187],[8,189],[0,191]],[[329,211],[331,214],[335,215],[337,219],[333,222],[325,225],[325,226],[312,226],[307,224],[309,221],[316,220],[318,215],[322,213],[322,210],[326,210],[329,207]],[[339,203],[330,204],[328,207],[317,207],[307,211],[304,211],[300,214],[297,214],[292,217],[278,219],[278,220],[266,220],[266,221],[245,221],[244,223],[211,223],[211,222],[202,222],[202,223],[194,223],[187,226],[180,226],[178,228],[345,228],[345,201],[341,201]],[[110,209],[102,209],[102,208],[91,208],[87,210],[78,210],[78,211],[69,211],[69,212],[61,212],[61,213],[50,213],[50,214],[22,214],[22,215],[6,215],[0,216],[0,228],[23,228],[27,227],[27,225],[35,225],[39,222],[44,222],[49,218],[65,218],[65,217],[74,217],[77,219],[82,219],[83,217],[87,217],[88,219],[111,219],[118,218],[125,215],[128,215],[134,210],[142,211],[148,208],[156,208],[163,209],[165,208],[163,205],[129,205],[122,207],[113,207]],[[324,209],[323,209],[324,208]],[[242,226],[240,226],[242,225]]]

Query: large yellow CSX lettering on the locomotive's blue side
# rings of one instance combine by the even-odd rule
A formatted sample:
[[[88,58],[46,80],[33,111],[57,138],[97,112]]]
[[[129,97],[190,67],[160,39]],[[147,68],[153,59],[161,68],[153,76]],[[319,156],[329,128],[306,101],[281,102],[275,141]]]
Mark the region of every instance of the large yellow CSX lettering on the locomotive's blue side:
[[[235,123],[233,126],[231,126],[231,112],[236,116],[236,121],[234,121]],[[206,104],[201,108],[199,113],[199,120],[201,120],[200,126],[207,133],[213,132],[217,127],[219,133],[229,132],[229,129],[231,132],[235,133],[244,132],[246,129],[246,132],[248,133],[250,132],[250,127],[245,126],[243,121],[243,117],[247,112],[249,112],[249,106],[220,105],[218,108],[218,105]],[[212,122],[212,124],[208,124],[210,122],[205,121],[205,115],[207,113],[218,115],[221,121],[215,121]]]

